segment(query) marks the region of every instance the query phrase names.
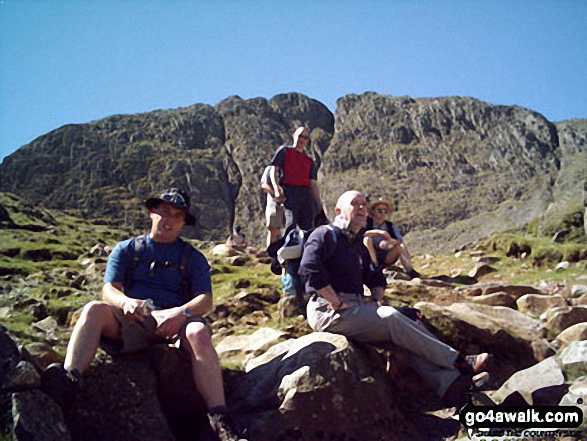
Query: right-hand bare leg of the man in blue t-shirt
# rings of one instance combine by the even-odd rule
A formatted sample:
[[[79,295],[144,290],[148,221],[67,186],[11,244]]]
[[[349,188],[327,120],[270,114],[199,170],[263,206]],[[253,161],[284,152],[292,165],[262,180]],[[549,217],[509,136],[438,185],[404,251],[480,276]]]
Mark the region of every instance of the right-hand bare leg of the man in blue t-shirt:
[[[182,347],[190,353],[196,388],[208,409],[225,406],[222,371],[210,331],[203,323],[193,322],[188,324],[185,333],[187,342],[182,341]]]

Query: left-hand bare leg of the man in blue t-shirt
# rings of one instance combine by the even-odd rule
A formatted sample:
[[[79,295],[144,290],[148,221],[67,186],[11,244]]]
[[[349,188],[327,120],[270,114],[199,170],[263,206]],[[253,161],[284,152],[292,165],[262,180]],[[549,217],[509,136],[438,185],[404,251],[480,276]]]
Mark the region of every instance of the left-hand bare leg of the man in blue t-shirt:
[[[64,367],[68,371],[85,371],[98,350],[102,336],[117,339],[120,324],[112,313],[111,306],[104,302],[90,302],[84,309],[73,328],[67,345]]]

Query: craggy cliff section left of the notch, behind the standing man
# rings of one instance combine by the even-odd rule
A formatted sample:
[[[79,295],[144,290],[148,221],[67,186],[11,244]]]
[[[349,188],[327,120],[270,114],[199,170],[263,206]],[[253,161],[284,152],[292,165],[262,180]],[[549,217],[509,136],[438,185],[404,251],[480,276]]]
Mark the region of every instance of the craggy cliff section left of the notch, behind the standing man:
[[[323,104],[294,93],[67,125],[5,158],[0,189],[140,229],[148,226],[146,195],[178,186],[190,193],[198,219],[188,235],[219,240],[234,222],[261,241],[266,201],[260,175],[299,125],[312,130],[308,153],[320,162],[334,117]]]

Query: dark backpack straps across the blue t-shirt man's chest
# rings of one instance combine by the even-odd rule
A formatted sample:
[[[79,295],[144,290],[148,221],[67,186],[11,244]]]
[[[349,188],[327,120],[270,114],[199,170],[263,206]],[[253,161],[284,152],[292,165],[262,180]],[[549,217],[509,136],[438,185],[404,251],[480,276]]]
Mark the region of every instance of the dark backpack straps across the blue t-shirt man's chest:
[[[181,240],[181,239],[180,239]],[[129,265],[128,269],[126,270],[126,274],[124,275],[124,288],[126,291],[132,285],[132,273],[137,269],[141,262],[148,262],[149,263],[149,271],[154,271],[155,266],[161,265],[165,268],[176,268],[179,270],[181,274],[181,286],[182,286],[182,294],[187,301],[191,300],[191,281],[188,274],[188,262],[190,258],[190,254],[192,252],[192,245],[188,242],[181,240],[182,249],[181,249],[181,256],[179,263],[171,262],[169,260],[152,260],[152,259],[143,259],[141,258],[141,254],[144,253],[145,250],[145,243],[147,241],[147,234],[143,234],[141,236],[134,237],[132,239],[133,242],[133,250],[134,255],[131,264]]]

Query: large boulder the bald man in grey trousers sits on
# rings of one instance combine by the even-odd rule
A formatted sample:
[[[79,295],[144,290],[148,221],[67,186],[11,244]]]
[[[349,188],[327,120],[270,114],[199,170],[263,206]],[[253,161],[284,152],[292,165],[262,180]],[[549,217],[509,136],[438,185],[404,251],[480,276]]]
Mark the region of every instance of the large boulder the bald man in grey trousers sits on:
[[[230,401],[251,440],[426,438],[383,370],[341,335],[287,340],[245,370]]]

